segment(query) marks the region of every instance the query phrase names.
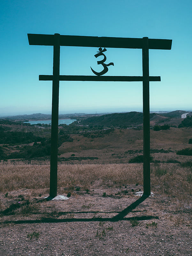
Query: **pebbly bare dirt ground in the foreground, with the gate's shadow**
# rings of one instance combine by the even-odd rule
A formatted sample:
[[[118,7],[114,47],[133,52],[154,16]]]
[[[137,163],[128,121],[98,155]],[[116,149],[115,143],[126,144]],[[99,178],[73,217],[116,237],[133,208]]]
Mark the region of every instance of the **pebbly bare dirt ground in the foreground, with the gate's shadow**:
[[[94,184],[50,201],[42,200],[46,189],[1,193],[0,255],[192,255],[191,208],[182,210],[155,188],[137,196],[141,190]]]

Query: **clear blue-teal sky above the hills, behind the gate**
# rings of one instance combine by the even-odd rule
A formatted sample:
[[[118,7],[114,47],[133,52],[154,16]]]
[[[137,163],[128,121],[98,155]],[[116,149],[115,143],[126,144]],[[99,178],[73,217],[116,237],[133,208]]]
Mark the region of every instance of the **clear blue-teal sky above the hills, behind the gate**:
[[[150,110],[192,110],[191,0],[2,0],[0,116],[50,113],[52,46],[29,45],[27,33],[172,39],[150,50]],[[98,48],[61,46],[61,75],[93,75]],[[141,49],[107,48],[108,76],[142,76]],[[60,82],[60,113],[142,111],[142,82]]]

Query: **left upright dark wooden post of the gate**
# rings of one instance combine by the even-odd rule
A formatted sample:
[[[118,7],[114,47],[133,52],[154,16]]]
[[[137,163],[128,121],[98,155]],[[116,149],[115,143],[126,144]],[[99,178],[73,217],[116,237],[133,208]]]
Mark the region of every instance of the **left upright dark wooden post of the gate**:
[[[54,34],[53,91],[52,91],[52,116],[51,116],[51,156],[50,156],[50,197],[57,196],[59,66],[60,66],[60,34]]]

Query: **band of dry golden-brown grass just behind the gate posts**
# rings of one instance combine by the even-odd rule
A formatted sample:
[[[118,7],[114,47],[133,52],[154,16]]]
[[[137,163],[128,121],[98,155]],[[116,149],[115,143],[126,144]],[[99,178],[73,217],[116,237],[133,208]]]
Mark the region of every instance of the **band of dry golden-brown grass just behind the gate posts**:
[[[49,165],[0,166],[0,192],[49,188]],[[192,168],[180,164],[151,164],[151,190],[182,202],[192,195]],[[91,188],[99,180],[104,186],[142,185],[142,164],[59,165],[58,188]]]

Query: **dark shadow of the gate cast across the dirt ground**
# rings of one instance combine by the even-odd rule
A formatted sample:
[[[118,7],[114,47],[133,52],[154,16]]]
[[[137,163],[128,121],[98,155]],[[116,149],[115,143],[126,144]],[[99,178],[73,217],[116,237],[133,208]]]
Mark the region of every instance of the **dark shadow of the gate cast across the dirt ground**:
[[[125,218],[125,216],[129,213],[132,212],[139,204],[141,204],[145,199],[147,199],[148,196],[141,196],[139,199],[137,199],[134,203],[130,204],[127,208],[119,212],[116,216],[112,218],[65,218],[65,219],[56,219],[56,218],[42,218],[40,220],[14,220],[14,221],[4,221],[0,222],[0,224],[6,224],[6,223],[12,223],[12,224],[23,224],[23,223],[59,223],[59,222],[89,222],[89,221],[111,221],[111,222],[117,222],[119,220],[150,220],[150,219],[158,219],[157,216],[140,216],[140,217],[129,217]],[[42,200],[41,200],[42,201]],[[39,201],[40,202],[40,201]],[[21,205],[19,205],[21,206]],[[10,208],[10,207],[9,207]],[[3,215],[12,215],[11,209],[6,209],[0,213]],[[10,212],[10,214],[9,214]],[[59,212],[59,215],[65,215],[66,213],[71,213],[71,214],[78,214],[78,213],[113,213],[113,212]]]

